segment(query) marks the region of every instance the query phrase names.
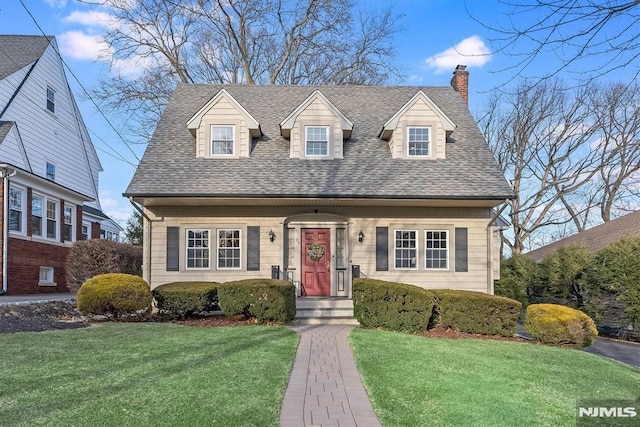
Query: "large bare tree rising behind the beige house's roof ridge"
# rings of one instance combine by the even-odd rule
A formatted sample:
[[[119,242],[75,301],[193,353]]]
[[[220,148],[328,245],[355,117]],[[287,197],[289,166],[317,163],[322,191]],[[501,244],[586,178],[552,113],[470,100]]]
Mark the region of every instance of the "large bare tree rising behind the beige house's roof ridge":
[[[112,16],[104,41],[116,67],[97,99],[152,130],[177,83],[380,84],[399,77],[390,9],[351,0],[85,0]]]

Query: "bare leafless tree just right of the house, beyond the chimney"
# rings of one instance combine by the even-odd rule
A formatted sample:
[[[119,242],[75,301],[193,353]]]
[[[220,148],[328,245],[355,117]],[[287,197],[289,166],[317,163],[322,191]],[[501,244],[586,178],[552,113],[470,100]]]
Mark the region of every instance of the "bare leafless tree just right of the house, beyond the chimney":
[[[570,96],[557,80],[524,82],[512,93],[496,91],[484,111],[480,126],[515,193],[504,243],[520,253],[545,228],[592,207],[570,203],[597,172],[586,96]]]

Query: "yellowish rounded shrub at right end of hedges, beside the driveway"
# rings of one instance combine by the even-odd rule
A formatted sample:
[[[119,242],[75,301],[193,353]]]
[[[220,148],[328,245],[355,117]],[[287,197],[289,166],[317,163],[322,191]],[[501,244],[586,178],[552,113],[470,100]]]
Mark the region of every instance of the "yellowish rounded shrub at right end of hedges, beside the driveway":
[[[525,328],[545,344],[593,344],[598,330],[593,320],[580,310],[557,304],[532,304],[527,307]]]

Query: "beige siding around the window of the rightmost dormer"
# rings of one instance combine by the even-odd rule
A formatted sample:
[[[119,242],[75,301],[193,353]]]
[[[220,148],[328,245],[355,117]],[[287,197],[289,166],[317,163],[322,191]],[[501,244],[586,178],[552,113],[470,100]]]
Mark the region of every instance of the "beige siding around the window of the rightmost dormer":
[[[398,120],[398,126],[389,141],[393,158],[407,158],[407,127],[431,127],[430,158],[445,158],[446,131],[437,114],[421,99],[418,99]]]

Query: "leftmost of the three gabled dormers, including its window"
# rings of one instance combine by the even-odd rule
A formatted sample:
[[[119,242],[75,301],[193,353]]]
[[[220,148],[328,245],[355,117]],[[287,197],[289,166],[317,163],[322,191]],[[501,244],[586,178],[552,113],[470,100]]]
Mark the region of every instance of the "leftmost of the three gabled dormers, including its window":
[[[187,121],[196,137],[196,157],[249,157],[252,138],[262,131],[256,119],[224,89],[221,89]]]

